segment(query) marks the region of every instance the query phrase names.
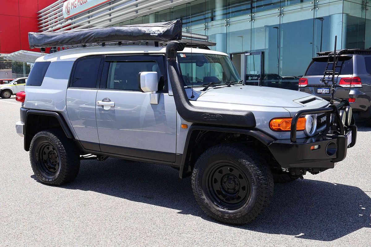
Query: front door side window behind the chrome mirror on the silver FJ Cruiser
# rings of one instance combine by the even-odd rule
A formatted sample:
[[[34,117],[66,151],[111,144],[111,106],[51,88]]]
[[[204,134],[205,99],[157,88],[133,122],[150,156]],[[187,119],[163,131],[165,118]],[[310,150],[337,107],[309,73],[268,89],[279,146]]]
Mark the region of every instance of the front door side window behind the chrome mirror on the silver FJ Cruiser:
[[[111,61],[109,64],[107,89],[139,90],[139,73],[157,72],[158,90],[163,91],[165,80],[163,68],[157,61]]]

